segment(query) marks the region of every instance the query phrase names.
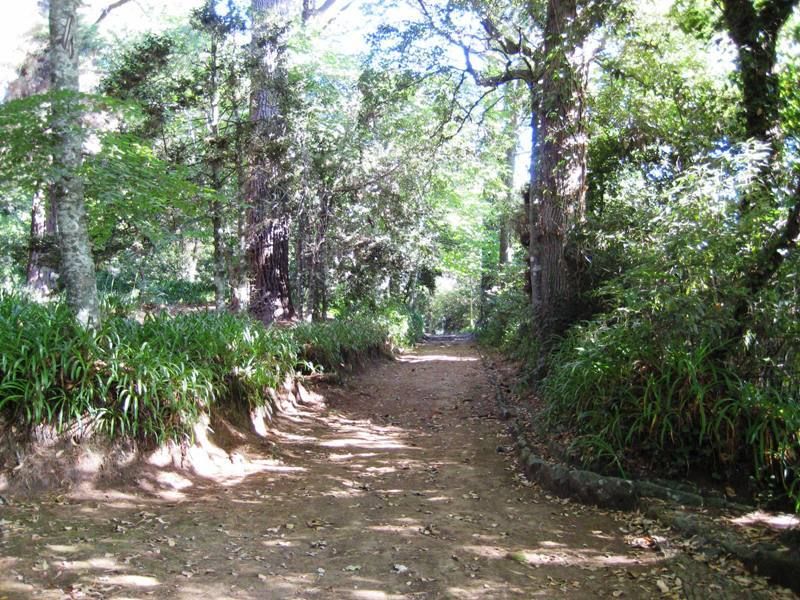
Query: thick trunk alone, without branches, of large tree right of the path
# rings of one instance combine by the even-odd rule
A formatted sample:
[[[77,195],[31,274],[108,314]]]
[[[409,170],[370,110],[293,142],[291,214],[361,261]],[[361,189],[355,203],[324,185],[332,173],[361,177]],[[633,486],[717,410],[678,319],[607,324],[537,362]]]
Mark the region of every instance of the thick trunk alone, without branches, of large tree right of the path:
[[[586,210],[583,39],[570,34],[575,0],[549,0],[531,183],[531,302],[542,348],[564,332],[578,312],[577,263],[570,235]],[[574,30],[574,27],[572,28]]]

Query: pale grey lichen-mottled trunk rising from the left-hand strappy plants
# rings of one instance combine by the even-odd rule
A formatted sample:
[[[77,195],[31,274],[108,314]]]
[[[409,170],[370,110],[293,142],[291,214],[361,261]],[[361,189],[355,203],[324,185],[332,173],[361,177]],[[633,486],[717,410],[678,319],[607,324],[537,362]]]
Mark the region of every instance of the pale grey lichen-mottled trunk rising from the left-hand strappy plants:
[[[79,1],[50,0],[52,90],[62,92],[52,109],[53,200],[67,303],[83,326],[93,327],[100,322],[100,310],[79,174],[83,144],[75,47]]]

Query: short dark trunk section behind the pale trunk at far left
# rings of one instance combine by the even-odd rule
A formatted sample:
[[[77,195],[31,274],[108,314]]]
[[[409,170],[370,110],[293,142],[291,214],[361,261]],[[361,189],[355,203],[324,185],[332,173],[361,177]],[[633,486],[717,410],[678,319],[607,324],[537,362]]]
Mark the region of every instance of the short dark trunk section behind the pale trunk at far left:
[[[58,273],[51,265],[51,244],[56,237],[56,213],[52,192],[40,189],[31,204],[31,237],[26,282],[37,296],[49,296],[56,289]]]

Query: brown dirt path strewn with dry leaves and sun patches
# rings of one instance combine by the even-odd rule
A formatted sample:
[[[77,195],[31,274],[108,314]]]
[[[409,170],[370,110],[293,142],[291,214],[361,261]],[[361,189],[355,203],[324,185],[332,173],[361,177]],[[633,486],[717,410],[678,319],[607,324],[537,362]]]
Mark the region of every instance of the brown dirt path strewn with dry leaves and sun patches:
[[[282,418],[278,460],[242,449],[249,475],[0,506],[0,599],[784,594],[521,480],[467,342],[323,391],[327,408]]]

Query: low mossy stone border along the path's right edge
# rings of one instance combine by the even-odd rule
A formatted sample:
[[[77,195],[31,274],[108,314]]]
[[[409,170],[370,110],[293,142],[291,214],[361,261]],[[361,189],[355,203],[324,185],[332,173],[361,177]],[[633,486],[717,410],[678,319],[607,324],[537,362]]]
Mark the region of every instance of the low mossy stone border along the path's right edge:
[[[486,366],[486,357],[482,358]],[[490,369],[487,369],[487,374],[494,386],[498,415],[508,421],[522,469],[528,479],[557,496],[572,498],[583,504],[617,510],[640,510],[648,518],[658,520],[673,531],[696,538],[711,552],[729,554],[750,571],[800,594],[800,553],[792,553],[785,546],[751,542],[733,528],[721,529],[719,523],[711,518],[683,510],[685,507],[708,507],[749,512],[755,510],[753,507],[735,504],[725,498],[704,497],[696,492],[653,481],[609,477],[544,460],[528,445],[525,429],[513,407],[506,401],[496,377]],[[653,499],[662,502],[653,503]]]

